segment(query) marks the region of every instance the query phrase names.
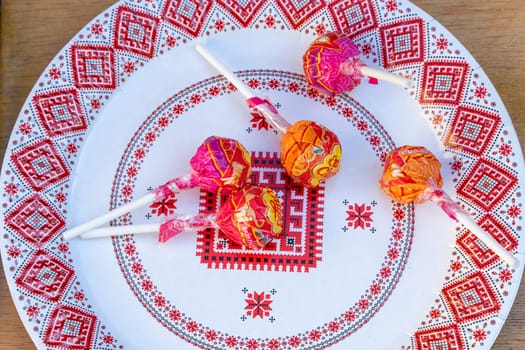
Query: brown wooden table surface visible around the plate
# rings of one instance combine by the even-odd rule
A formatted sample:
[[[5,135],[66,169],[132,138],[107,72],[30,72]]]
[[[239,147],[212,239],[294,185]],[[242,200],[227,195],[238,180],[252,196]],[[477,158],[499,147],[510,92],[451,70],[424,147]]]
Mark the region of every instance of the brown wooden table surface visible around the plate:
[[[400,0],[400,2],[405,2]],[[525,144],[523,0],[414,0],[453,33],[494,83]],[[82,26],[113,0],[1,1],[0,155],[38,76]],[[0,349],[34,349],[0,271]],[[494,350],[525,349],[525,282]]]

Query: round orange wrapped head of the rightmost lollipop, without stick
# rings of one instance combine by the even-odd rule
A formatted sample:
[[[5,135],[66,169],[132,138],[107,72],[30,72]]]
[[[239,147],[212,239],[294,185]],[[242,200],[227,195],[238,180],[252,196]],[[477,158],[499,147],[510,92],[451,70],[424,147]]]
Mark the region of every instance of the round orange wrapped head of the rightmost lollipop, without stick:
[[[398,202],[421,203],[429,189],[443,186],[440,170],[441,163],[425,147],[402,146],[387,154],[379,187]]]

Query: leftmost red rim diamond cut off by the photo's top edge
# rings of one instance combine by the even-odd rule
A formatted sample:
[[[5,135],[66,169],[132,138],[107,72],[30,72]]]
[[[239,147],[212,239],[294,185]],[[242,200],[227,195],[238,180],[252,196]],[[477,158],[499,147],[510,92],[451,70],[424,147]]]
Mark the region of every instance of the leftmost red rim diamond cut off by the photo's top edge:
[[[211,1],[169,0],[164,5],[164,19],[176,28],[197,37],[202,30]]]

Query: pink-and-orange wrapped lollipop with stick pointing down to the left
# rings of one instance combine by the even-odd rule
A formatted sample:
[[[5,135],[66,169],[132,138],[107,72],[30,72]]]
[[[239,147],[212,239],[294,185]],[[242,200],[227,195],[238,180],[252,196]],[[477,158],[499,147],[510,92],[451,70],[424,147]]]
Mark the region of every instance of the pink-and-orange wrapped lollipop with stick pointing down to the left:
[[[191,172],[169,180],[152,192],[86,223],[64,232],[64,239],[71,239],[83,232],[103,225],[134,209],[161,201],[175,192],[200,187],[210,192],[228,194],[242,187],[251,174],[251,157],[238,141],[210,136],[190,159]]]

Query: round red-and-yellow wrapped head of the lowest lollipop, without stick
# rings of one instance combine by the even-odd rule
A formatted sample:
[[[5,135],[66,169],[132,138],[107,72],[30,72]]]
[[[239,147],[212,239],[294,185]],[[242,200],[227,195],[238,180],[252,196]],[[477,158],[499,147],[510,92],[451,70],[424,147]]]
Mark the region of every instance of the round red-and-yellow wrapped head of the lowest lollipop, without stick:
[[[232,241],[261,249],[283,231],[282,205],[268,187],[243,187],[220,207],[216,222]]]

